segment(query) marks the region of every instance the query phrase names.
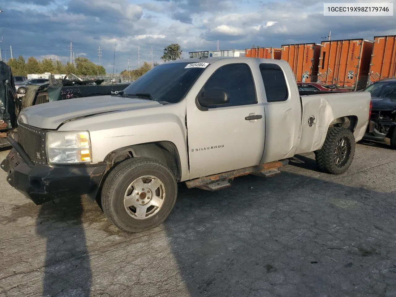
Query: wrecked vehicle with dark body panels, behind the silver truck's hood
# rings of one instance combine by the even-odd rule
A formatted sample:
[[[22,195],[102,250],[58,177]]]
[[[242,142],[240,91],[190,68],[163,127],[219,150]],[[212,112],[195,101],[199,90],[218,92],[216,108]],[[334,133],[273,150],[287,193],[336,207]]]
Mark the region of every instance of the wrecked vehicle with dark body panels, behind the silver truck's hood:
[[[55,79],[49,76],[49,81],[40,86],[29,86],[26,95],[21,99],[22,108],[50,101],[117,94],[131,83],[106,84],[104,79],[82,80],[72,73]]]

